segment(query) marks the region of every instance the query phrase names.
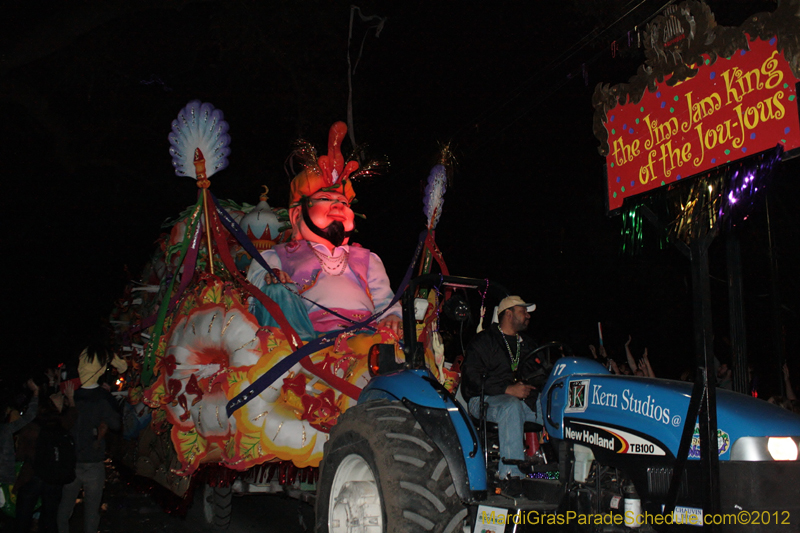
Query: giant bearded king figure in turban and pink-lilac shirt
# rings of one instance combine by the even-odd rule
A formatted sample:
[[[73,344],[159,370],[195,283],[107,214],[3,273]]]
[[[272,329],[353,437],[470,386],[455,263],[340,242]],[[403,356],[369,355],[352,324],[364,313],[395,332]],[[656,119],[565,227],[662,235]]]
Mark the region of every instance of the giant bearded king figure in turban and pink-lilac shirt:
[[[334,124],[328,138],[328,155],[307,165],[292,180],[292,240],[261,254],[272,271],[253,261],[247,276],[269,296],[275,293],[270,294],[267,287],[277,283],[300,295],[310,320],[305,329],[313,329],[306,335],[298,331],[304,340],[363,321],[375,312],[383,312],[379,325],[398,335],[401,332],[400,305],[389,308],[394,293],[382,261],[366,248],[350,243],[355,230],[351,179],[358,163],[344,164],[340,144],[346,132],[343,122]],[[281,308],[286,312],[283,304]],[[251,312],[262,325],[272,325],[255,299],[251,301]],[[289,318],[293,326],[302,321]]]

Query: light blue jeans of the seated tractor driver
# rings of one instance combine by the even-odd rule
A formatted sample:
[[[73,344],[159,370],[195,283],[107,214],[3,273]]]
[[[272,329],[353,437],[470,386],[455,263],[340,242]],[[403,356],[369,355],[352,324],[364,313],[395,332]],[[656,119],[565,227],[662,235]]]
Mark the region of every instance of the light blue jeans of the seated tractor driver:
[[[535,413],[528,407],[528,404],[510,394],[486,396],[484,401],[489,405],[486,410],[486,420],[497,424],[497,433],[500,437],[500,457],[514,460],[525,459],[523,428],[525,422],[542,423],[540,399],[536,400]],[[469,412],[475,418],[480,418],[480,396],[470,399]],[[500,479],[506,479],[508,476],[523,477],[516,465],[507,465],[501,461],[499,470]]]

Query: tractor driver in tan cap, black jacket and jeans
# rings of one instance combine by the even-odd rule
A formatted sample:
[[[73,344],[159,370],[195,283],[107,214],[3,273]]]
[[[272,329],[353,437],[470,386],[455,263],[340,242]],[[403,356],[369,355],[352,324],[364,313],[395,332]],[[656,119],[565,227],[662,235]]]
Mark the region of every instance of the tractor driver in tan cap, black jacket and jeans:
[[[523,426],[525,422],[542,423],[537,388],[520,381],[527,377],[520,375],[522,368],[528,372],[541,368],[529,357],[536,343],[522,335],[528,329],[530,312],[534,309],[535,304],[526,303],[519,296],[503,298],[497,306],[497,321],[472,339],[464,359],[461,393],[470,414],[480,418],[483,391],[486,419],[497,424],[501,459],[524,460]],[[502,461],[499,473],[501,479],[522,477],[515,464]]]

